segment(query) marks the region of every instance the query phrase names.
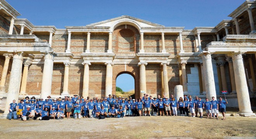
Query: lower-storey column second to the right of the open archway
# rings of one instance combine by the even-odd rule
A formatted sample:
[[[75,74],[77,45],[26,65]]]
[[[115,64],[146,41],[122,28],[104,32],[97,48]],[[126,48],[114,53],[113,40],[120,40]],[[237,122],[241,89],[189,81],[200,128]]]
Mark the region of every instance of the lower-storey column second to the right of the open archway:
[[[168,72],[167,65],[169,62],[163,62],[161,65],[163,66],[163,95],[169,97],[169,86],[168,86]]]

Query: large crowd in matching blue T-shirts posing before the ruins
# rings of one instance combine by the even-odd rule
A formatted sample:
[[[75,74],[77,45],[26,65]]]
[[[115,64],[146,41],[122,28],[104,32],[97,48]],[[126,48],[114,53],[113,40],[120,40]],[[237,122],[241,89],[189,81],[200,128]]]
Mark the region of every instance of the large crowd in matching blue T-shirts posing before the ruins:
[[[83,98],[82,96],[74,95],[74,97],[65,96],[64,98],[51,99],[50,96],[45,98],[26,97],[24,100],[20,100],[16,103],[13,100],[9,105],[9,120],[14,119],[21,120],[49,120],[49,119],[67,119],[74,117],[74,119],[92,118],[98,117],[99,119],[105,119],[106,117],[130,117],[130,116],[177,116],[177,108],[180,110],[180,116],[189,116],[203,118],[203,110],[205,109],[208,119],[218,119],[219,111],[223,115],[225,120],[226,104],[227,100],[219,101],[212,97],[209,101],[206,98],[204,102],[201,98],[195,97],[193,100],[189,95],[180,97],[179,100],[175,100],[175,97],[171,95],[171,98],[158,95],[158,97],[152,98],[147,94],[144,97],[138,99],[129,98],[116,98],[116,95],[109,95],[108,97],[99,99],[95,97],[90,99],[89,97]],[[215,116],[216,114],[216,116]]]

